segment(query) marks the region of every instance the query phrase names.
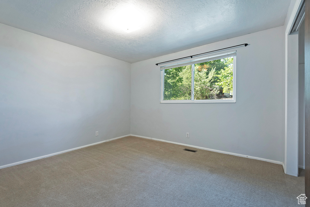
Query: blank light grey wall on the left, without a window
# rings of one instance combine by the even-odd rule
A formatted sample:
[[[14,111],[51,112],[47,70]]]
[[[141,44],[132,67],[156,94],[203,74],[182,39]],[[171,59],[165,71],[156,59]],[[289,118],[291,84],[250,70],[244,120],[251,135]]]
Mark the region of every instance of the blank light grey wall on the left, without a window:
[[[130,68],[0,24],[0,166],[130,134]]]

